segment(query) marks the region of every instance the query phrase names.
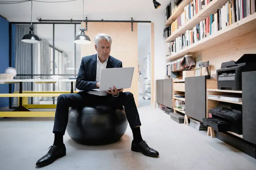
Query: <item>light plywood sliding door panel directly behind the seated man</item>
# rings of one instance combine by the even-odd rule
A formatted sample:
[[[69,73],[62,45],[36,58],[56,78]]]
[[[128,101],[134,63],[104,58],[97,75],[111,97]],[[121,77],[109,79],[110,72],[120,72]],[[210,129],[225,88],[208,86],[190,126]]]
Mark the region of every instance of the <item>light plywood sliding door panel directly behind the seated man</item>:
[[[124,91],[131,92],[134,95],[138,107],[138,32],[137,23],[133,23],[133,32],[131,23],[88,23],[88,31],[85,32],[92,41],[89,45],[81,46],[81,57],[96,54],[94,48],[94,37],[98,33],[106,33],[111,36],[113,42],[110,55],[119,59],[123,67],[134,67],[133,81],[130,89]]]

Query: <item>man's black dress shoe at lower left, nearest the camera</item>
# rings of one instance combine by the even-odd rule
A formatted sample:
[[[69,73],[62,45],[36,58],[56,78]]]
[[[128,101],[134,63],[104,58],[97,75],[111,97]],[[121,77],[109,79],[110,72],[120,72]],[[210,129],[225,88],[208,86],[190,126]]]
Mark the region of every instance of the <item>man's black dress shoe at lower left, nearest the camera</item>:
[[[66,147],[65,144],[62,147],[58,146],[50,146],[48,153],[40,158],[36,165],[37,166],[46,166],[53,163],[57,158],[61,158],[66,155]]]

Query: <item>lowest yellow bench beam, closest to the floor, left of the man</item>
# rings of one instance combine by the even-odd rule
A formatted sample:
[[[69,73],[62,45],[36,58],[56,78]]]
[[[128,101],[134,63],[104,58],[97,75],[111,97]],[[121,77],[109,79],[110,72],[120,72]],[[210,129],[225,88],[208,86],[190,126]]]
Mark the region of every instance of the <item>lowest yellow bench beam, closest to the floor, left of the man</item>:
[[[55,111],[0,111],[0,117],[54,117]]]

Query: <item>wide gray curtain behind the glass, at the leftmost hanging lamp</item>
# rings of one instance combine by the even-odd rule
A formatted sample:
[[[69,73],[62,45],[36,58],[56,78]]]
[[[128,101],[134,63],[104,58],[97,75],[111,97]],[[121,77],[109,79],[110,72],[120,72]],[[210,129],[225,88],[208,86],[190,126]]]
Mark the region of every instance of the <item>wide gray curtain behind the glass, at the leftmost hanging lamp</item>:
[[[37,33],[36,25],[34,26],[34,32]],[[31,74],[31,53],[33,50],[33,63],[37,62],[38,58],[38,46],[37,44],[28,44],[22,42],[22,37],[29,33],[30,24],[17,24],[16,25],[16,42],[15,42],[15,68],[17,69],[17,74]],[[33,68],[33,72],[34,72]],[[34,73],[35,74],[35,73]],[[17,76],[15,79],[30,79],[31,76]],[[23,90],[32,90],[31,83],[23,83]],[[33,86],[34,87],[34,86]],[[19,84],[14,85],[14,91],[20,89]],[[36,88],[33,90],[36,90]],[[36,99],[36,98],[35,98]],[[38,101],[38,98],[35,100]],[[29,98],[29,104],[31,99]],[[34,102],[34,101],[33,101]],[[18,105],[18,98],[14,98],[13,106]]]

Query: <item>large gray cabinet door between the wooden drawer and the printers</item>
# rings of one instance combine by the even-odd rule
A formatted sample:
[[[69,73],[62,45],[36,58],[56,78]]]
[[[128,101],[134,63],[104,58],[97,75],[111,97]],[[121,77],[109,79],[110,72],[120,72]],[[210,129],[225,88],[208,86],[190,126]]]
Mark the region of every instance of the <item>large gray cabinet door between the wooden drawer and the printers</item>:
[[[206,77],[186,77],[185,92],[186,115],[202,122],[206,117]]]

